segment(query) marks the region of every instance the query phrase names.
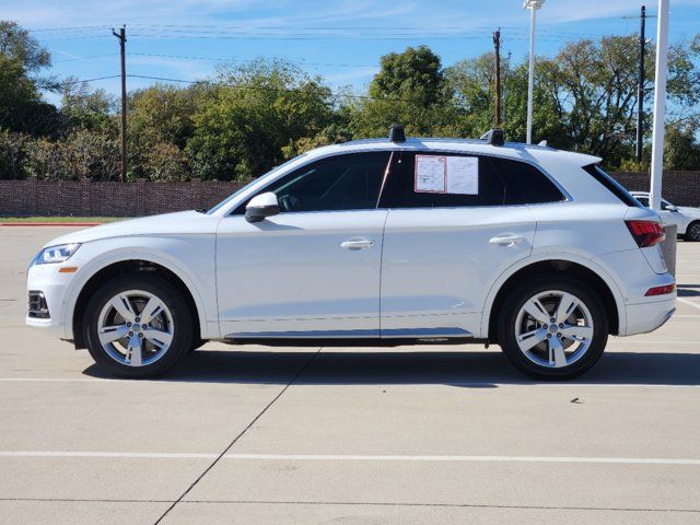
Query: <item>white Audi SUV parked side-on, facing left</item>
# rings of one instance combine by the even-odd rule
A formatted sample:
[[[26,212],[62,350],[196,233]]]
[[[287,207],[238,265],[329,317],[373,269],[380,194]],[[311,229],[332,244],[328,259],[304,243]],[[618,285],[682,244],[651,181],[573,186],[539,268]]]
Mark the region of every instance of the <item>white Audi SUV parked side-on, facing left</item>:
[[[26,323],[147,377],[206,340],[498,343],[538,378],[675,311],[658,215],[600,159],[486,140],[305,153],[207,212],[70,233],[28,270]]]

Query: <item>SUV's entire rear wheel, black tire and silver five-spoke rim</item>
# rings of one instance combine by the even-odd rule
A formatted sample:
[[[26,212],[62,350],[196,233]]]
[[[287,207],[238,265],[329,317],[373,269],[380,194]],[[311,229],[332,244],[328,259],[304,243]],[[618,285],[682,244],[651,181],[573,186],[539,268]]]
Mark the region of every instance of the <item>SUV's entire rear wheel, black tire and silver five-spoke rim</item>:
[[[599,296],[567,276],[518,285],[498,323],[499,342],[521,371],[538,380],[568,380],[603,354],[608,319]]]

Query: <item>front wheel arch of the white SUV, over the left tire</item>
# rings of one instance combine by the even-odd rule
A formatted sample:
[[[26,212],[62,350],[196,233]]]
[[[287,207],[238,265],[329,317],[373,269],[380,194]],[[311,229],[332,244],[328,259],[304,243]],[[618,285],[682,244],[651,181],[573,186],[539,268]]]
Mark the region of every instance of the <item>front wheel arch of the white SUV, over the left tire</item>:
[[[184,277],[179,268],[174,268],[162,259],[155,257],[144,257],[147,254],[132,254],[130,257],[124,257],[116,260],[103,261],[96,268],[83,277],[82,284],[77,287],[73,294],[72,308],[67,312],[67,327],[71,328],[73,342],[77,349],[85,348],[85,341],[82,330],[82,318],[85,313],[85,307],[90,301],[90,296],[94,293],[104,282],[107,280],[126,273],[148,272],[151,275],[159,275],[168,282],[172,282],[177,290],[183,294],[187,303],[189,304],[194,322],[195,334],[197,337],[202,336],[202,328],[206,327],[207,317],[203,308],[201,298],[196,291],[196,288]]]

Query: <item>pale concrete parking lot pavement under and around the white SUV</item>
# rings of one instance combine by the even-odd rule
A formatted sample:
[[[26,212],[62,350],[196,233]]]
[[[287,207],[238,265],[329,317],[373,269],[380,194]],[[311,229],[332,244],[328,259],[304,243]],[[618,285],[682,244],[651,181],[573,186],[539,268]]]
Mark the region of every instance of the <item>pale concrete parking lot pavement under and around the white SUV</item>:
[[[700,244],[677,315],[584,377],[469,347],[209,343],[105,377],[24,326],[62,228],[0,228],[0,523],[700,523]]]

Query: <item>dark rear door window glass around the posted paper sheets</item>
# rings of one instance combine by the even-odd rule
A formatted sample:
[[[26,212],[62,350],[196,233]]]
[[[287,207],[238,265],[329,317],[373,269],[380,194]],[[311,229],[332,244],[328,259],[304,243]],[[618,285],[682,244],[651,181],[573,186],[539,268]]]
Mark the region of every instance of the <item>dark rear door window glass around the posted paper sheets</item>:
[[[420,162],[425,162],[427,159],[472,159],[476,163],[478,179],[474,192],[451,192],[446,186],[434,191],[421,189],[417,182],[417,155]],[[383,208],[459,208],[512,203],[521,203],[517,194],[501,177],[488,156],[401,152],[395,155],[380,206]]]

